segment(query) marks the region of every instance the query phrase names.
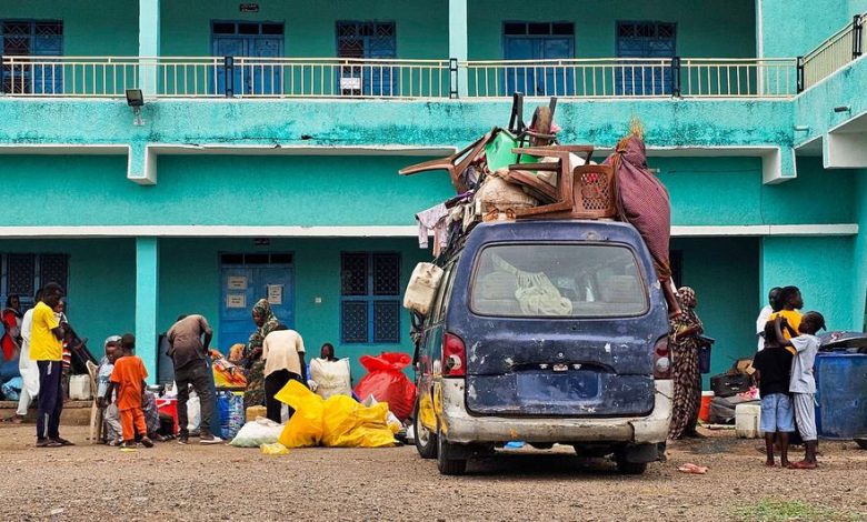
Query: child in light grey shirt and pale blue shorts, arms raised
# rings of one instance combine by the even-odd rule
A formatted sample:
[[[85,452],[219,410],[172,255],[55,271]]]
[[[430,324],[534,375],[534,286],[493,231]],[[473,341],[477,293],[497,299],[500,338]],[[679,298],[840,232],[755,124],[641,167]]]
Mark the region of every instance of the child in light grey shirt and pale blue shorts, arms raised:
[[[789,392],[798,419],[798,431],[804,439],[805,455],[800,462],[789,464],[794,470],[816,469],[816,380],[813,377],[813,364],[819,351],[820,341],[816,332],[825,328],[825,318],[819,312],[807,312],[800,321],[800,335],[787,340],[780,328],[781,319],[774,321],[777,341],[784,347],[793,347],[797,352],[791,360],[791,380]]]

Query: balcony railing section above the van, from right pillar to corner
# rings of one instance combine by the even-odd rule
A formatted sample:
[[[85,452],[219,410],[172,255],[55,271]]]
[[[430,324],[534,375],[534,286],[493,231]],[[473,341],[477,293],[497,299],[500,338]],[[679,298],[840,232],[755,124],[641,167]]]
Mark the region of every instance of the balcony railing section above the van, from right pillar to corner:
[[[514,91],[560,98],[785,98],[797,87],[791,59],[574,59],[462,63],[470,98]]]

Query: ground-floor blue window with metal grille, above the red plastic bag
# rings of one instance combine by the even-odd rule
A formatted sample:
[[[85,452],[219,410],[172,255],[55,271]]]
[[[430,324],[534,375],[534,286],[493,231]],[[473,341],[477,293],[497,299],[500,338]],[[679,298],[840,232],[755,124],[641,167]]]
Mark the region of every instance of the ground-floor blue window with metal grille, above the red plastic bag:
[[[342,343],[400,342],[400,254],[342,253],[340,295]]]

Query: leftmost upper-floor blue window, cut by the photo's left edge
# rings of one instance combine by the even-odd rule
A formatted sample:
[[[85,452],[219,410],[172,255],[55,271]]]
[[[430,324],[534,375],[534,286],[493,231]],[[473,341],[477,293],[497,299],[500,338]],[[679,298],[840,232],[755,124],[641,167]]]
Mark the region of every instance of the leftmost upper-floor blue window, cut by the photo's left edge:
[[[0,54],[7,57],[59,57],[63,54],[63,22],[59,20],[0,21]],[[62,94],[63,68],[33,63],[3,68],[3,92]]]

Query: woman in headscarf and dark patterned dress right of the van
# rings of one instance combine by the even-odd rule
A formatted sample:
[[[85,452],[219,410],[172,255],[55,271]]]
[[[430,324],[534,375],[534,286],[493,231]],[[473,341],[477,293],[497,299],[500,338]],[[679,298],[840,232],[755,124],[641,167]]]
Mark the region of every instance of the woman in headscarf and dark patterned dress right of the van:
[[[668,344],[671,353],[671,373],[675,380],[675,405],[669,439],[699,436],[696,432],[701,405],[701,374],[698,370],[698,337],[704,333],[696,315],[696,292],[689,287],[677,291],[680,312],[670,320]]]

